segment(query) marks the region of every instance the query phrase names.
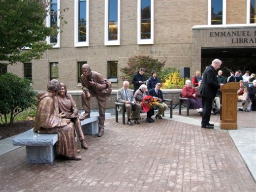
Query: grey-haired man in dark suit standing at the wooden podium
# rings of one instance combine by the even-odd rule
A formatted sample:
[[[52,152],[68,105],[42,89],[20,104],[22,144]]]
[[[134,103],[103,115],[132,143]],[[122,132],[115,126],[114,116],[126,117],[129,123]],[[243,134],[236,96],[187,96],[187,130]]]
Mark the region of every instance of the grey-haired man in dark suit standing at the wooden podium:
[[[209,124],[211,111],[212,111],[212,103],[213,99],[217,94],[217,91],[223,85],[218,84],[217,77],[215,74],[215,70],[220,68],[222,65],[222,61],[215,59],[212,61],[212,64],[206,67],[203,73],[202,85],[200,87],[200,94],[202,96],[203,103],[203,116],[201,126],[202,128],[213,128],[213,124]]]

